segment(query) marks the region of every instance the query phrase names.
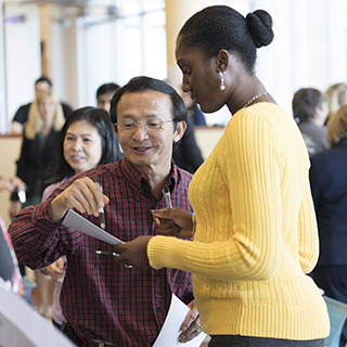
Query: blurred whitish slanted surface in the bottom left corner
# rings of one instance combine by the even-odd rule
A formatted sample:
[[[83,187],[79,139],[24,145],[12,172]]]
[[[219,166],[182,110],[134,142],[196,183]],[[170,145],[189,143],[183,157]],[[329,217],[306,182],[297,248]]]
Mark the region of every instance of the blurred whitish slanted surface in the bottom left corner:
[[[47,346],[75,345],[0,279],[0,347]]]

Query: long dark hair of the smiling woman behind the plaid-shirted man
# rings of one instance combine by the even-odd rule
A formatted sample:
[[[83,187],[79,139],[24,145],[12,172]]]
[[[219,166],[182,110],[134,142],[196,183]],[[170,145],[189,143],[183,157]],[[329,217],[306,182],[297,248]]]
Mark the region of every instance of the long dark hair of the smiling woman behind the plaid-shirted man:
[[[98,129],[98,133],[101,137],[102,156],[101,164],[114,163],[117,157],[118,141],[113,130],[113,125],[110,120],[110,115],[102,108],[82,107],[72,112],[64,124],[64,127],[60,133],[57,143],[57,163],[53,177],[48,181],[49,183],[60,182],[63,178],[75,175],[73,168],[67,164],[64,157],[64,140],[68,127],[79,120],[87,120],[90,125]]]

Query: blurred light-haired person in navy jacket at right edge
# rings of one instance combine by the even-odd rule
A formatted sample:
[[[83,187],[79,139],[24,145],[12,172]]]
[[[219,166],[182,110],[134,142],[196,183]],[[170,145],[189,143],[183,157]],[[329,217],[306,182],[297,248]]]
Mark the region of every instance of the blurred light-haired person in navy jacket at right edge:
[[[311,158],[320,254],[311,275],[325,295],[347,304],[347,105],[327,120],[330,149]],[[347,323],[339,346],[347,343]]]

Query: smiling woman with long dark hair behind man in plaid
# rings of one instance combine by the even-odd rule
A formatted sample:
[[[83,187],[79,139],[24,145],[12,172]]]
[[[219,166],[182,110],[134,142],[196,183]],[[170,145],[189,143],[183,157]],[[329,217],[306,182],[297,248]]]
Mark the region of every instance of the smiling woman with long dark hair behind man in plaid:
[[[74,111],[66,119],[59,139],[57,164],[52,184],[43,192],[42,201],[67,178],[87,171],[101,164],[121,158],[110,114],[101,108],[83,107]],[[64,321],[60,306],[60,293],[65,275],[66,257],[63,256],[42,271],[55,282],[52,321],[60,327]]]

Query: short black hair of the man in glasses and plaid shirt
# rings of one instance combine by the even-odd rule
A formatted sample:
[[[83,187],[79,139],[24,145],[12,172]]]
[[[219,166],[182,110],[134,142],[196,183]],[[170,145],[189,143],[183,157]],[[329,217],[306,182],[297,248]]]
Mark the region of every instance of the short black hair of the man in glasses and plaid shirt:
[[[111,120],[117,123],[117,104],[125,93],[141,92],[146,90],[156,90],[170,97],[172,102],[172,120],[175,129],[178,121],[187,121],[187,106],[182,98],[177,93],[176,89],[160,79],[146,76],[139,76],[130,79],[130,81],[117,89],[111,101]]]

